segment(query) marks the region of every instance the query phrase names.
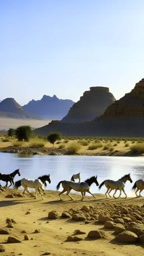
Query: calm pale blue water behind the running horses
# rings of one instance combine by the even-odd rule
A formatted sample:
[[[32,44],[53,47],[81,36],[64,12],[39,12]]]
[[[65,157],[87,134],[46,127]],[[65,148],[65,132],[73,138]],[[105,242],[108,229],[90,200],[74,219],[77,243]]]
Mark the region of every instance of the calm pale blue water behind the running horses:
[[[11,173],[20,168],[21,177],[18,179],[38,178],[44,174],[51,174],[51,184],[47,189],[55,190],[57,183],[64,179],[70,179],[73,174],[81,173],[81,179],[97,175],[99,184],[105,179],[117,180],[124,174],[131,173],[133,183],[127,181],[125,191],[129,196],[134,196],[131,187],[137,179],[144,179],[144,158],[143,157],[116,157],[116,156],[26,156],[20,154],[0,153],[0,172]],[[1,181],[1,185],[5,183]],[[62,190],[62,188],[60,188]],[[104,193],[106,187],[98,190],[95,184],[91,191]],[[142,192],[144,196],[144,191]]]

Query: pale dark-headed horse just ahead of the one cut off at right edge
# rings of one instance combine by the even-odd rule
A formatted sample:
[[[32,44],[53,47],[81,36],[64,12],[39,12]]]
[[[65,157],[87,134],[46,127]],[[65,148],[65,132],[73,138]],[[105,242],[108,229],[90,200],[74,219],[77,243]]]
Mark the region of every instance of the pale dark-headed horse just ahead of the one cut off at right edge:
[[[122,178],[118,179],[118,181],[112,181],[111,179],[105,179],[105,181],[103,181],[98,188],[100,190],[102,186],[104,186],[104,185],[106,186],[106,188],[107,188],[107,191],[105,193],[106,197],[107,197],[107,192],[109,192],[108,195],[110,196],[110,192],[115,189],[115,192],[114,192],[114,195],[113,195],[113,197],[115,197],[116,191],[120,190],[120,195],[117,197],[117,198],[119,198],[122,194],[122,191],[125,194],[124,187],[125,187],[125,182],[126,181],[130,181],[131,183],[133,182],[132,179],[131,179],[131,173],[126,174]],[[127,197],[127,194],[125,194],[125,198],[126,197]]]

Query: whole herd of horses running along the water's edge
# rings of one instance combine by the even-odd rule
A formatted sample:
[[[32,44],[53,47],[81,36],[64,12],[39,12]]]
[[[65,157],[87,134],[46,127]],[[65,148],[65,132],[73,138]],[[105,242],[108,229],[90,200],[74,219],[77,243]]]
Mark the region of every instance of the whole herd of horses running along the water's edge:
[[[20,170],[17,169],[14,172],[10,173],[10,174],[2,174],[0,173],[0,181],[5,181],[6,182],[6,187],[8,185],[8,182],[10,182],[10,186],[13,185],[14,188],[19,188],[20,186],[24,187],[24,191],[22,192],[22,194],[26,197],[26,193],[30,194],[30,191],[28,190],[28,188],[35,188],[35,197],[37,199],[38,197],[38,193],[41,195],[42,199],[43,199],[43,194],[45,193],[44,189],[43,189],[43,185],[47,186],[46,181],[48,181],[49,183],[51,183],[51,179],[50,179],[50,174],[47,175],[43,175],[38,177],[37,179],[29,179],[29,178],[22,178],[19,181],[16,181],[15,183],[13,182],[13,179],[15,178],[16,174],[18,174],[19,176],[21,176],[20,174]],[[79,182],[75,182],[75,179],[79,179]],[[115,190],[113,197],[114,198],[119,198],[122,194],[122,191],[125,194],[125,198],[127,197],[127,194],[125,193],[124,187],[125,187],[125,183],[127,181],[130,181],[131,183],[133,182],[131,179],[131,174],[126,174],[124,175],[122,178],[118,179],[118,181],[113,181],[111,179],[105,179],[105,181],[103,181],[100,185],[97,181],[97,176],[92,176],[91,178],[86,179],[86,181],[80,182],[80,173],[77,174],[73,174],[73,176],[71,177],[70,181],[60,181],[57,186],[56,189],[59,190],[60,185],[62,185],[63,190],[59,193],[60,196],[60,200],[61,199],[61,194],[64,194],[66,192],[66,195],[68,195],[70,197],[71,200],[74,200],[73,197],[70,195],[70,191],[71,190],[75,190],[77,192],[81,192],[82,194],[82,200],[84,199],[84,197],[86,196],[86,192],[88,192],[89,194],[91,194],[94,198],[95,195],[93,195],[91,193],[91,191],[89,191],[89,188],[91,187],[92,183],[95,183],[96,186],[98,186],[99,190],[101,189],[102,186],[106,186],[107,191],[105,193],[106,197],[111,197],[110,192],[112,190]],[[1,184],[0,184],[1,186]],[[8,187],[10,187],[8,186]],[[142,179],[138,179],[133,187],[132,190],[136,190],[136,196],[141,196],[141,192],[144,189],[144,181]],[[120,194],[118,197],[115,197],[116,191],[119,190]],[[140,191],[139,195],[137,195],[137,192]],[[107,196],[108,195],[108,196]]]

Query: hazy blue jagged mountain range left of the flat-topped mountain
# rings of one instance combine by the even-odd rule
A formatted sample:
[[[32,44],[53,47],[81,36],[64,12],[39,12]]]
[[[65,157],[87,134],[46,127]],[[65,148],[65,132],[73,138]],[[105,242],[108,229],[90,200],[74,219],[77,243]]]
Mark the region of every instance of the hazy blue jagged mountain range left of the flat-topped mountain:
[[[71,100],[60,100],[44,95],[41,100],[31,100],[27,105],[22,106],[22,109],[30,113],[42,116],[44,119],[62,119],[69,111],[70,107],[75,102]]]

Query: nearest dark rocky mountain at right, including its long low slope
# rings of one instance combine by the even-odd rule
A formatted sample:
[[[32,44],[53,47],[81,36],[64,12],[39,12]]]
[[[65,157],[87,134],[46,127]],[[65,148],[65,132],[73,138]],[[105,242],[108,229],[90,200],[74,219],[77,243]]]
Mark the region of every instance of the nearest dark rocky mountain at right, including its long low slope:
[[[38,134],[50,131],[62,136],[144,137],[144,79],[120,100],[107,107],[101,118],[91,122],[51,122],[35,130]]]

